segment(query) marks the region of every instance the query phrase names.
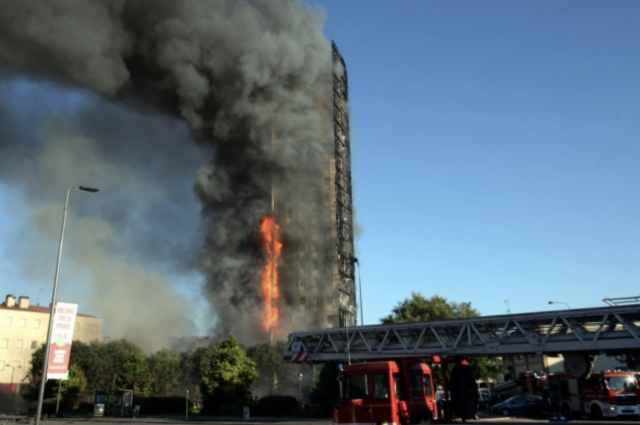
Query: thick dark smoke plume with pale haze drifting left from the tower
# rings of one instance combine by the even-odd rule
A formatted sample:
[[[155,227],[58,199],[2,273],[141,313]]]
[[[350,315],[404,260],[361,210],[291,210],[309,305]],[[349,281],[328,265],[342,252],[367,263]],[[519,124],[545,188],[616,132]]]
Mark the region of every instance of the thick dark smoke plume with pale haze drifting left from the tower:
[[[50,281],[64,191],[95,186],[72,195],[62,295],[148,351],[194,321],[264,339],[256,232],[271,180],[286,189],[321,167],[331,134],[323,12],[295,0],[0,7],[0,188],[23,217],[2,248],[19,274]]]

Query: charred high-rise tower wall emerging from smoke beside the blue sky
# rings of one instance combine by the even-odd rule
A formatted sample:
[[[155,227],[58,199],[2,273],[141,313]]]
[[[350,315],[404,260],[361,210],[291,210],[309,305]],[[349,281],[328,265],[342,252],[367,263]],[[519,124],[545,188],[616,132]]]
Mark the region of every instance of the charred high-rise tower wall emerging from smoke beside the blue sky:
[[[292,193],[278,195],[277,215],[284,233],[291,228],[305,233],[296,238],[304,241],[296,246],[284,240],[289,249],[283,251],[283,282],[290,283],[284,286],[297,289],[280,304],[285,329],[356,324],[348,80],[335,43],[332,56],[331,110],[325,113],[332,117],[328,122],[333,125],[333,138],[320,140],[324,166],[301,173]],[[296,210],[296,199],[307,209]]]

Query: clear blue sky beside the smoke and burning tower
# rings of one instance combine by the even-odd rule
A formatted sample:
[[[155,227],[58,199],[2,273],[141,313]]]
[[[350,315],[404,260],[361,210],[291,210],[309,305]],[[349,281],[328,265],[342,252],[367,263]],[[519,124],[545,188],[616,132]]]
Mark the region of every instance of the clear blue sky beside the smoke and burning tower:
[[[638,295],[640,3],[311,4],[349,73],[366,324],[412,291],[484,315]]]

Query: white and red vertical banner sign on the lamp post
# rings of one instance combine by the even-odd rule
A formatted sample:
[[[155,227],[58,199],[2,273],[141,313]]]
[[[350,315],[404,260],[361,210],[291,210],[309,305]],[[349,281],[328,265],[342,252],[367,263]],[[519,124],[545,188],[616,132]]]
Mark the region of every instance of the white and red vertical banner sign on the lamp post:
[[[68,379],[71,342],[76,325],[78,304],[56,303],[49,346],[47,379]]]

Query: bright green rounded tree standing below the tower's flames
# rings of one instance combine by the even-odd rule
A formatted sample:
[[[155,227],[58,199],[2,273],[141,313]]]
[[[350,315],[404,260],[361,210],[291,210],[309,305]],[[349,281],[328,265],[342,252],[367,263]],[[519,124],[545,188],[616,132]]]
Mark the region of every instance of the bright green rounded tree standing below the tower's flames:
[[[233,335],[215,346],[202,376],[200,391],[207,413],[239,413],[249,402],[249,387],[258,378],[256,364]]]

